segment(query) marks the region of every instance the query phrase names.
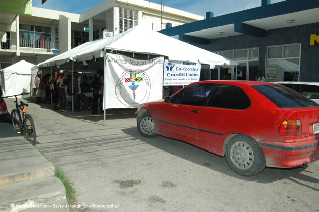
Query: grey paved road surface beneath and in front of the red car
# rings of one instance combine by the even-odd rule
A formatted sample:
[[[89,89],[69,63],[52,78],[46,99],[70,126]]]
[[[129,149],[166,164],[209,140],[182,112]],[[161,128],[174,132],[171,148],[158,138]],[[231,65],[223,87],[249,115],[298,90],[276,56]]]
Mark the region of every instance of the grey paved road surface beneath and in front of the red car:
[[[103,126],[103,115],[91,111],[27,109],[37,147],[73,182],[81,207],[74,211],[319,211],[319,161],[243,177],[226,158],[140,136],[135,110],[107,111]]]

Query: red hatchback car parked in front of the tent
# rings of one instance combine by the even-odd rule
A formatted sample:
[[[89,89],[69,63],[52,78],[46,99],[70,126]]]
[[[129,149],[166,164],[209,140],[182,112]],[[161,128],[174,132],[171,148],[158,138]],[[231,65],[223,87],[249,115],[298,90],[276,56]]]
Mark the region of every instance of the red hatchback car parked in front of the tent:
[[[282,85],[201,81],[164,100],[141,104],[145,137],[182,140],[220,156],[252,176],[267,167],[297,167],[319,159],[319,105]]]

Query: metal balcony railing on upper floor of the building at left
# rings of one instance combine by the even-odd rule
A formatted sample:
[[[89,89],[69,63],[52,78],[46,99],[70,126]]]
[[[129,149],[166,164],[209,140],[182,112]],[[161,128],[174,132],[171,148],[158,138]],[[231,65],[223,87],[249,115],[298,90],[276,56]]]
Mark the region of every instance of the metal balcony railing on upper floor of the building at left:
[[[12,49],[12,45],[16,45],[16,40],[7,38],[6,42],[1,42],[1,49]],[[58,49],[56,42],[30,39],[20,39],[20,47],[47,49],[47,51]]]

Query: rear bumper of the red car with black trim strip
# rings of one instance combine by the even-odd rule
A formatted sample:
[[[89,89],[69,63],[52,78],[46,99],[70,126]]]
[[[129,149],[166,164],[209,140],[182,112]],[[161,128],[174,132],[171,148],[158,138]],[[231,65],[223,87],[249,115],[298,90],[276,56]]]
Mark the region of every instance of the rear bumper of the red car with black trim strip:
[[[268,167],[297,167],[319,160],[318,139],[296,143],[259,141]]]

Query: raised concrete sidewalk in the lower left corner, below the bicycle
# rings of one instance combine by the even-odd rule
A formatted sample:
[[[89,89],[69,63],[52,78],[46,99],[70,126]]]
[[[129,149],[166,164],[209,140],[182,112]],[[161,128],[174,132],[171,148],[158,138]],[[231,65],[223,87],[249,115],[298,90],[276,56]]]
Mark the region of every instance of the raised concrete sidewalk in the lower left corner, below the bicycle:
[[[0,161],[0,211],[69,211],[54,208],[68,202],[53,164],[8,123],[0,123]]]

